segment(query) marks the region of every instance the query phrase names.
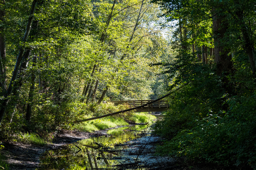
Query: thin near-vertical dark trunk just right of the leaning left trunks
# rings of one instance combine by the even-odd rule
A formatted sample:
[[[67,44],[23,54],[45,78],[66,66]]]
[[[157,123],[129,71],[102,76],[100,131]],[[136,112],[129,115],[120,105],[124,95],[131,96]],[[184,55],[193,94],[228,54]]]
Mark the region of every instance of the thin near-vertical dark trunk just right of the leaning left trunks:
[[[36,55],[33,56],[33,64],[32,67],[36,66]],[[27,105],[27,113],[26,113],[26,121],[30,123],[31,115],[32,115],[32,106],[33,106],[33,100],[34,100],[34,91],[35,91],[35,81],[36,81],[36,75],[35,73],[32,73],[31,75],[31,85],[29,88],[28,93],[28,105]]]

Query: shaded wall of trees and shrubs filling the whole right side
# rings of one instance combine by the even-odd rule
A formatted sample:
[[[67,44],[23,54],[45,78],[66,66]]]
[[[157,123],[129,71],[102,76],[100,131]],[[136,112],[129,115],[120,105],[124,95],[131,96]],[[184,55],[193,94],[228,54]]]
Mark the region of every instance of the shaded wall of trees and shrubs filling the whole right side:
[[[162,67],[159,75],[174,91],[156,124],[166,138],[159,153],[255,169],[255,2],[153,2],[172,21],[163,26],[174,27],[170,45],[177,52],[151,64]]]

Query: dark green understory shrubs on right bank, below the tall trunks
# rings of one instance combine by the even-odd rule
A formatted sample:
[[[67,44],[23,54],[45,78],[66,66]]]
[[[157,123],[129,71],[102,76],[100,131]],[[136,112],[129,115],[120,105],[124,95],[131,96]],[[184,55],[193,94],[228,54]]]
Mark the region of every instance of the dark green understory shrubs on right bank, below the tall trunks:
[[[156,123],[155,133],[166,138],[159,154],[187,156],[225,166],[256,168],[255,82],[235,56],[237,71],[228,85],[216,76],[215,66],[195,61],[189,54],[163,63],[172,85],[190,82],[169,97],[170,108]],[[177,62],[176,62],[177,61]],[[247,65],[248,66],[248,65]],[[247,78],[246,80],[244,78]],[[228,87],[228,88],[227,88]],[[251,159],[252,158],[252,159]]]

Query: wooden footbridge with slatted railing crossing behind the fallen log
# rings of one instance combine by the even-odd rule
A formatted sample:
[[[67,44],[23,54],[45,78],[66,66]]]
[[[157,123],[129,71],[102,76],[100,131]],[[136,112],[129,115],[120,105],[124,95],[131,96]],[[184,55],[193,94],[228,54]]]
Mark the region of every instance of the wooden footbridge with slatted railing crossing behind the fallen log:
[[[124,101],[110,101],[115,105],[127,104],[130,107],[138,107],[154,100],[124,100]],[[166,100],[158,100],[147,106],[137,108],[137,112],[162,112],[168,108],[168,102]]]

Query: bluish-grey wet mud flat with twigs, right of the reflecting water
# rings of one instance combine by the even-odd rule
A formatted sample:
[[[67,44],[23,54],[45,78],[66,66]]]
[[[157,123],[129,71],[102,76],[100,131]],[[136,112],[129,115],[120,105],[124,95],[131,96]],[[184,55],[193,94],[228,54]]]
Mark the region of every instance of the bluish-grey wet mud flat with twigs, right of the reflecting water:
[[[154,155],[160,139],[156,136],[145,136],[119,144],[119,146],[125,146],[125,149],[113,158],[120,162],[116,167],[121,169],[173,169],[177,167],[175,166],[176,159]]]

